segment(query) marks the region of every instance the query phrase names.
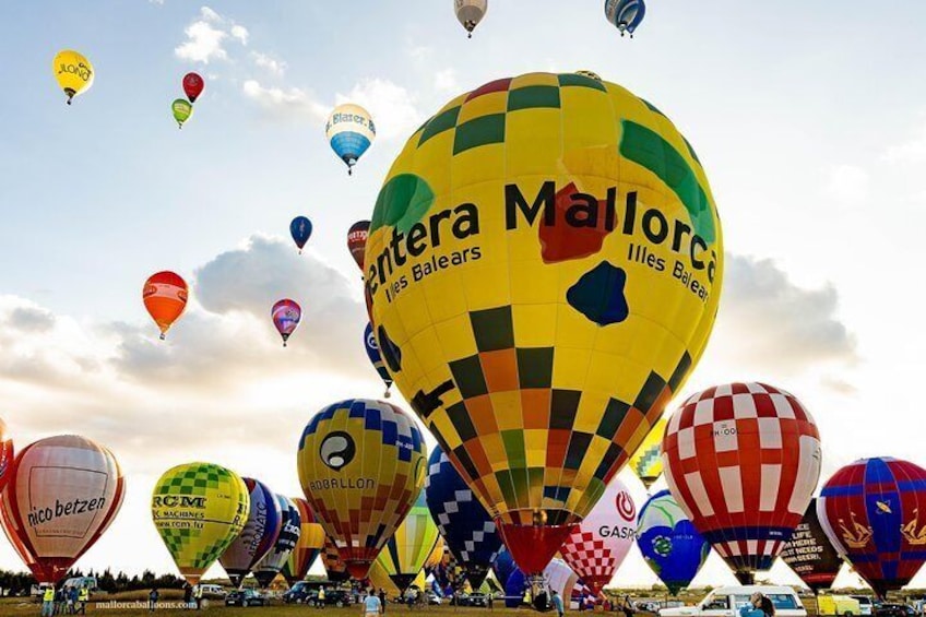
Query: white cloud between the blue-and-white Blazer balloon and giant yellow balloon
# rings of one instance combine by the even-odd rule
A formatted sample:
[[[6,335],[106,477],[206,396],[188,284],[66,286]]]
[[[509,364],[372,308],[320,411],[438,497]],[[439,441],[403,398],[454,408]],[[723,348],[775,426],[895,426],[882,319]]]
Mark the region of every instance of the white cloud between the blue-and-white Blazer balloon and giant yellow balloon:
[[[404,87],[380,78],[366,79],[346,95],[339,94],[336,103],[356,103],[373,117],[377,137],[407,138],[424,121],[415,107],[416,96]]]

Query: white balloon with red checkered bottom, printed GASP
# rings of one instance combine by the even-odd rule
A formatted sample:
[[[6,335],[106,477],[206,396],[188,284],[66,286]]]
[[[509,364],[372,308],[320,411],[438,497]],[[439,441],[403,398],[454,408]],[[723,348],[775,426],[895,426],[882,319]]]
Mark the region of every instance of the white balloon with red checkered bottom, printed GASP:
[[[637,526],[637,507],[618,478],[562,543],[563,561],[598,595],[620,568]]]

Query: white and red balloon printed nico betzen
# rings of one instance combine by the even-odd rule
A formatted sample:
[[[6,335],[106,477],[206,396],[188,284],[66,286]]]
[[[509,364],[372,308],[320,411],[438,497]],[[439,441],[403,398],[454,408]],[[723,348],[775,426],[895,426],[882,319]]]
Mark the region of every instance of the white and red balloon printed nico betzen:
[[[58,583],[122,507],[122,470],[107,448],[60,435],[16,455],[0,496],[0,522],[39,583]]]

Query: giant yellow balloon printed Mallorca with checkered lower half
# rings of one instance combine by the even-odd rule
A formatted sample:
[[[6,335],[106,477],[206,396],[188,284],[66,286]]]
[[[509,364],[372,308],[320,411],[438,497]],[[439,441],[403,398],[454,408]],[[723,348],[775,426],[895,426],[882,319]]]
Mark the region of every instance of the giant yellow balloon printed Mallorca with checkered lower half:
[[[697,365],[723,247],[701,164],[658,109],[530,73],[412,135],[364,263],[390,375],[538,573]]]

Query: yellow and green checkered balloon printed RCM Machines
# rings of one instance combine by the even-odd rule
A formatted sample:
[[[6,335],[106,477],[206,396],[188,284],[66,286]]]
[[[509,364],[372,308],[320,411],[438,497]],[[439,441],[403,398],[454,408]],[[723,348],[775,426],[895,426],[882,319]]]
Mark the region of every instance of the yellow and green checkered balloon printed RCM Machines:
[[[194,585],[238,537],[251,502],[245,480],[212,463],[167,470],[151,496],[151,515],[177,569]]]

